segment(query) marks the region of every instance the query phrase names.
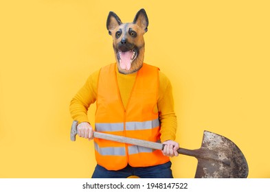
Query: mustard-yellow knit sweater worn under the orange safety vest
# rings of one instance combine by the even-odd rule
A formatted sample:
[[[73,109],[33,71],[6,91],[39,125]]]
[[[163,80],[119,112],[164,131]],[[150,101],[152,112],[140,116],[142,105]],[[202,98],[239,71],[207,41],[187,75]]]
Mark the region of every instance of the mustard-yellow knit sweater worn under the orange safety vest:
[[[115,71],[122,103],[123,106],[126,107],[137,73],[124,75],[119,73],[117,69],[115,69]],[[69,106],[71,117],[78,121],[78,123],[89,122],[87,110],[91,104],[95,103],[97,98],[99,73],[100,71],[92,73],[88,77],[85,85],[80,88],[78,93],[71,100]],[[157,106],[154,110],[155,112],[159,112],[161,142],[175,140],[177,117],[174,111],[172,86],[168,77],[166,77],[164,73],[161,73],[161,71],[159,71],[159,95]]]

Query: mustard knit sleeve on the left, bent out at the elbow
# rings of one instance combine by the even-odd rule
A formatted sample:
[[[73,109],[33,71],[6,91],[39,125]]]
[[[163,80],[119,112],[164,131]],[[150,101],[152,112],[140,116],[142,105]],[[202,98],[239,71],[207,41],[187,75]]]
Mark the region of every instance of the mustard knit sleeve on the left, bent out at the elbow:
[[[72,119],[78,121],[78,123],[89,122],[87,111],[97,98],[99,74],[100,71],[95,71],[95,73],[91,74],[84,86],[71,99],[69,111]]]

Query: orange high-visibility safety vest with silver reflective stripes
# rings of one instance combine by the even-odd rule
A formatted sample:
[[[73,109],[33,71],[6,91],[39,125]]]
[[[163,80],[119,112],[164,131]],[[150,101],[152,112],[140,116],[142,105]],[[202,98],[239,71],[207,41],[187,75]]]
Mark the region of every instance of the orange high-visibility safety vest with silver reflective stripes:
[[[95,131],[159,142],[159,113],[153,111],[157,106],[159,69],[143,64],[137,71],[126,109],[120,97],[115,69],[115,64],[110,64],[100,70]],[[170,160],[161,150],[137,145],[104,139],[94,139],[94,145],[98,165],[108,170],[120,170],[128,164],[148,167]]]

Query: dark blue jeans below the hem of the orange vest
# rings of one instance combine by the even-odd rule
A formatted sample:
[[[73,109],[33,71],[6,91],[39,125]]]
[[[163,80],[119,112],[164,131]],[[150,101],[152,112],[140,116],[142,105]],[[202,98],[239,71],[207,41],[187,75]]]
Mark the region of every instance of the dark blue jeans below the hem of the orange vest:
[[[138,176],[139,178],[173,178],[172,163],[164,163],[151,167],[131,167],[126,166],[118,171],[109,171],[100,165],[95,167],[92,178],[128,178],[129,176]]]

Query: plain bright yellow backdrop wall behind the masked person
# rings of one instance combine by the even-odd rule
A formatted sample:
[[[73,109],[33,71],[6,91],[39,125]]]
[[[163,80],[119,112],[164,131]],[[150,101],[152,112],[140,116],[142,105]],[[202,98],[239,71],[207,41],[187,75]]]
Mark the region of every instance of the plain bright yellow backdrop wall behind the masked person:
[[[0,178],[89,178],[93,142],[69,141],[69,101],[114,62],[106,17],[148,14],[145,62],[171,80],[181,147],[231,139],[270,178],[269,1],[1,1]],[[89,118],[93,122],[94,107]],[[193,178],[196,158],[172,158]]]

